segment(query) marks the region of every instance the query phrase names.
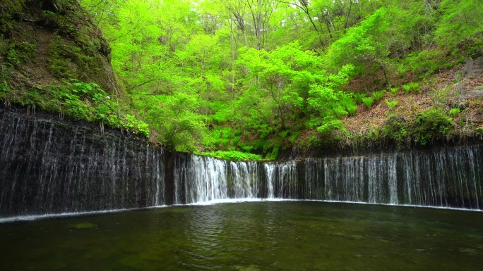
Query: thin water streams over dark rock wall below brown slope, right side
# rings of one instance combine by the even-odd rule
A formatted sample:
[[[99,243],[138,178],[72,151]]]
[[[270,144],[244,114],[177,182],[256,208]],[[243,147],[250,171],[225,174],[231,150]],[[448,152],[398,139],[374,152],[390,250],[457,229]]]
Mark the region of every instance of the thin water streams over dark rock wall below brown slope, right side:
[[[306,198],[329,201],[482,208],[477,147],[305,162]]]

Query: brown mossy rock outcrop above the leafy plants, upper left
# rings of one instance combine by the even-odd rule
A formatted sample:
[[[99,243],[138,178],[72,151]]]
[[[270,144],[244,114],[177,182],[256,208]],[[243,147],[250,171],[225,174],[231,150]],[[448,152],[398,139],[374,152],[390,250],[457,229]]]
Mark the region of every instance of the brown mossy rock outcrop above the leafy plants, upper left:
[[[109,44],[76,0],[2,1],[0,13],[0,88],[21,96],[76,79],[117,94]]]

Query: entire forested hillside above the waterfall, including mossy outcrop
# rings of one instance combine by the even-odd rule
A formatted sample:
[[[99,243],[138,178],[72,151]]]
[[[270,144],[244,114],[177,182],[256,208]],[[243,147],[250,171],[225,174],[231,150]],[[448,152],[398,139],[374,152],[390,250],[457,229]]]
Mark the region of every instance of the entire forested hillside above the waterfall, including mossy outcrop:
[[[25,16],[30,2],[37,17]],[[230,159],[482,137],[477,0],[30,2],[0,6],[6,102]],[[54,30],[44,77],[55,84],[19,92],[12,77],[29,76],[42,39],[16,25],[32,17]],[[104,59],[83,59],[91,47]],[[110,62],[109,80],[86,80],[90,61]]]

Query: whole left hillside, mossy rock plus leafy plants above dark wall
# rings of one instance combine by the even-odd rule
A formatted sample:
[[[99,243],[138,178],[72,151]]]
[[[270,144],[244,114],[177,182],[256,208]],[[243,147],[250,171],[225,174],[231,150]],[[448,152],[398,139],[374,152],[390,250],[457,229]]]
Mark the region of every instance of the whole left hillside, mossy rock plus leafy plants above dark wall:
[[[0,99],[148,136],[121,108],[111,49],[76,0],[0,4]]]

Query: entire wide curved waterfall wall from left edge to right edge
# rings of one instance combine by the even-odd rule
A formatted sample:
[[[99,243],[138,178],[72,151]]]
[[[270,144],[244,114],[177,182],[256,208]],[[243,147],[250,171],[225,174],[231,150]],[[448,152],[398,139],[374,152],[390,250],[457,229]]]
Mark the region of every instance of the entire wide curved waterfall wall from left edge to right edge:
[[[0,113],[0,218],[229,198],[483,208],[482,145],[278,162],[190,154],[165,161],[162,149],[120,132]]]

